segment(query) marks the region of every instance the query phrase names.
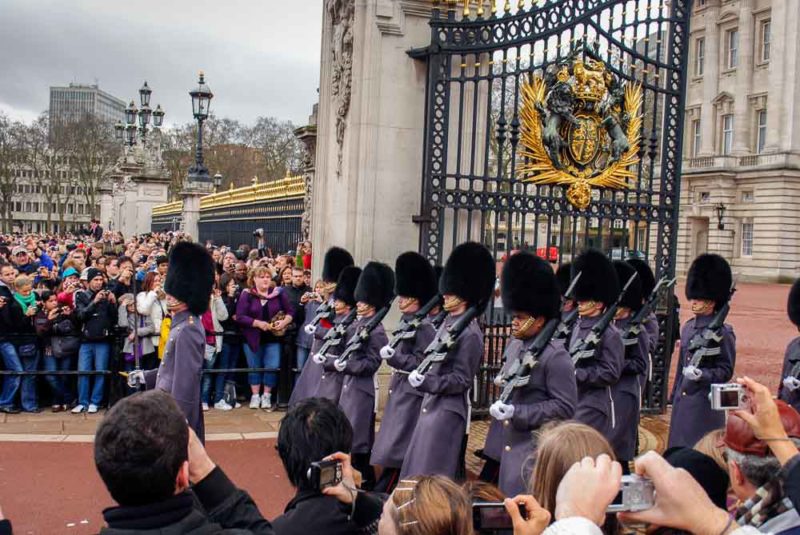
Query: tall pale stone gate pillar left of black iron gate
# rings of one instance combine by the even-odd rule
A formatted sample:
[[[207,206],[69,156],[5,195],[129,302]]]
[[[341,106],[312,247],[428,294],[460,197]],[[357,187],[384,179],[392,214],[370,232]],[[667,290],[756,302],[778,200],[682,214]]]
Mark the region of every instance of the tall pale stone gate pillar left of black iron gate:
[[[430,0],[325,0],[311,239],[356,262],[416,250]],[[314,269],[321,270],[315,261]]]

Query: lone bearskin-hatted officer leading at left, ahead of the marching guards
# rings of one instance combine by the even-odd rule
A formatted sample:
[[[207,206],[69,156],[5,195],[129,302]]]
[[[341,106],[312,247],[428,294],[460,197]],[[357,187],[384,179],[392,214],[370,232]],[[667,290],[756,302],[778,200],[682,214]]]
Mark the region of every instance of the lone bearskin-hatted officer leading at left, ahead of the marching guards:
[[[200,379],[206,334],[200,316],[208,310],[213,286],[214,261],[205,247],[192,242],[172,247],[164,284],[172,325],[161,364],[156,370],[136,370],[128,376],[132,386],[144,382],[148,389],[171,394],[201,441],[205,440]]]

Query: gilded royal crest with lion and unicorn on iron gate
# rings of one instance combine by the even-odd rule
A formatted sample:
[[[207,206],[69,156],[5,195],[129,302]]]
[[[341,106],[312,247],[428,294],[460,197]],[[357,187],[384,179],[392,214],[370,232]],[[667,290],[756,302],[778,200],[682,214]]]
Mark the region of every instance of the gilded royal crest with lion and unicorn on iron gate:
[[[620,82],[596,53],[580,50],[522,86],[518,175],[535,184],[569,185],[584,209],[592,187],[633,186],[639,163],[642,87]]]

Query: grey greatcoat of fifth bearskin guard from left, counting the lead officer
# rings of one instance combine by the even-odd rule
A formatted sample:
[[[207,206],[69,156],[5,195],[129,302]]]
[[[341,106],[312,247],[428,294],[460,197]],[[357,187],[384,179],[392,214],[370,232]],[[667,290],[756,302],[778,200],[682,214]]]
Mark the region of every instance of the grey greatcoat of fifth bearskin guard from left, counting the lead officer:
[[[410,321],[413,314],[403,314]],[[425,348],[433,341],[436,331],[426,318],[417,327],[413,338],[401,341],[392,358],[387,360],[393,368],[389,380],[389,396],[383,409],[383,419],[375,445],[372,447],[370,463],[384,468],[400,468],[406,456],[408,443],[417,425],[422,398],[425,395],[408,383],[408,374],[422,362]]]

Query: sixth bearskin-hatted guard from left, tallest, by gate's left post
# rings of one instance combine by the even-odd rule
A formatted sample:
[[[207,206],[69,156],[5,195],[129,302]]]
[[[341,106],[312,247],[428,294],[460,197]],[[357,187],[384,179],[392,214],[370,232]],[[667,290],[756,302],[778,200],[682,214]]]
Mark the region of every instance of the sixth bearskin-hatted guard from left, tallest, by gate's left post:
[[[448,316],[437,336],[444,335],[470,307],[482,313],[492,298],[494,281],[495,261],[485,246],[467,242],[456,247],[439,280]],[[425,374],[417,370],[409,374],[411,386],[425,397],[400,469],[401,479],[425,474],[455,478],[463,471],[469,391],[483,350],[483,334],[473,319],[442,362],[433,364]]]

